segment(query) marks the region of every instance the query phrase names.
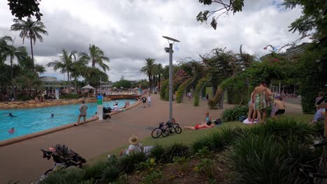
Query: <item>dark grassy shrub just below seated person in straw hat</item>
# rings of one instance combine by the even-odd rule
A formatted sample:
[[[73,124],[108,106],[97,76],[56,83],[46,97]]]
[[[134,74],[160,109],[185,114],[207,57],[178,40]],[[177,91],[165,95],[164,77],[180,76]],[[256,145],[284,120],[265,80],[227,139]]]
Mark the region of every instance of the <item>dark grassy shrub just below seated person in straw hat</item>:
[[[126,174],[131,174],[140,164],[140,162],[145,162],[147,158],[144,153],[132,153],[119,158],[119,167],[122,168]]]

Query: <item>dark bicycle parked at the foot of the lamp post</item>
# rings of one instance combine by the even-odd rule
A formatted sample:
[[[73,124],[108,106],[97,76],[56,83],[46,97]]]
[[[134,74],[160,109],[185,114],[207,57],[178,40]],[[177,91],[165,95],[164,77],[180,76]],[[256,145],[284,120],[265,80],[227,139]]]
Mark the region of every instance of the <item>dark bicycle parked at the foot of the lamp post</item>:
[[[158,128],[152,130],[151,136],[156,139],[162,135],[162,137],[167,137],[169,134],[182,133],[182,128],[177,123],[159,123]]]

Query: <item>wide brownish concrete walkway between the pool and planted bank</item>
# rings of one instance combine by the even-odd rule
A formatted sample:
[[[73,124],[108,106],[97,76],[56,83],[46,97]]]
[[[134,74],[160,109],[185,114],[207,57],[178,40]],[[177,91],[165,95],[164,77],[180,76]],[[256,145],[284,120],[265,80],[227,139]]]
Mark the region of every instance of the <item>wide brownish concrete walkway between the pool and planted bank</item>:
[[[173,105],[173,116],[181,126],[200,123],[208,110],[207,101],[201,100],[200,107],[193,107],[193,99]],[[225,107],[231,107],[225,105]],[[210,110],[212,118],[218,118],[221,110]],[[168,120],[168,102],[152,95],[152,107],[134,107],[129,111],[112,116],[110,122],[95,121],[36,137],[0,148],[0,183],[10,180],[31,183],[36,181],[53,161],[42,158],[41,148],[65,144],[87,160],[119,146],[127,145],[131,135],[140,139],[149,137],[159,122]]]

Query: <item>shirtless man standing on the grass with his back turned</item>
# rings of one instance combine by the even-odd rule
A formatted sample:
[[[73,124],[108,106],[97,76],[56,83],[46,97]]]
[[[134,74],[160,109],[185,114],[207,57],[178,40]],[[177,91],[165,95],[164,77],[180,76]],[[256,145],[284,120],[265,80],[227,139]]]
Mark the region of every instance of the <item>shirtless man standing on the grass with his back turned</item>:
[[[266,88],[266,82],[260,82],[260,86],[257,86],[252,93],[252,103],[254,104],[254,112],[252,114],[252,123],[258,113],[258,119],[261,123],[266,121],[266,107],[268,101],[268,90]],[[262,118],[261,118],[262,111]]]

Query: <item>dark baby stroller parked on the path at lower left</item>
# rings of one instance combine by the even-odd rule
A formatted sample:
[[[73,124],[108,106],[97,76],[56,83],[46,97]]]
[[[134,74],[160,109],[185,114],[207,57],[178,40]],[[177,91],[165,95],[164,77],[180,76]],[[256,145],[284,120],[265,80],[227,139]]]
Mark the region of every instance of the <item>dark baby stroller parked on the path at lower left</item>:
[[[54,151],[45,151],[41,149],[43,152],[43,158],[50,160],[52,156],[54,161],[54,167],[46,171],[44,175],[47,175],[50,171],[54,171],[58,166],[64,168],[71,166],[82,167],[82,164],[86,162],[86,160],[78,155],[78,153],[75,153],[75,151],[72,151],[65,145],[57,144],[56,146],[50,148],[54,148]]]

